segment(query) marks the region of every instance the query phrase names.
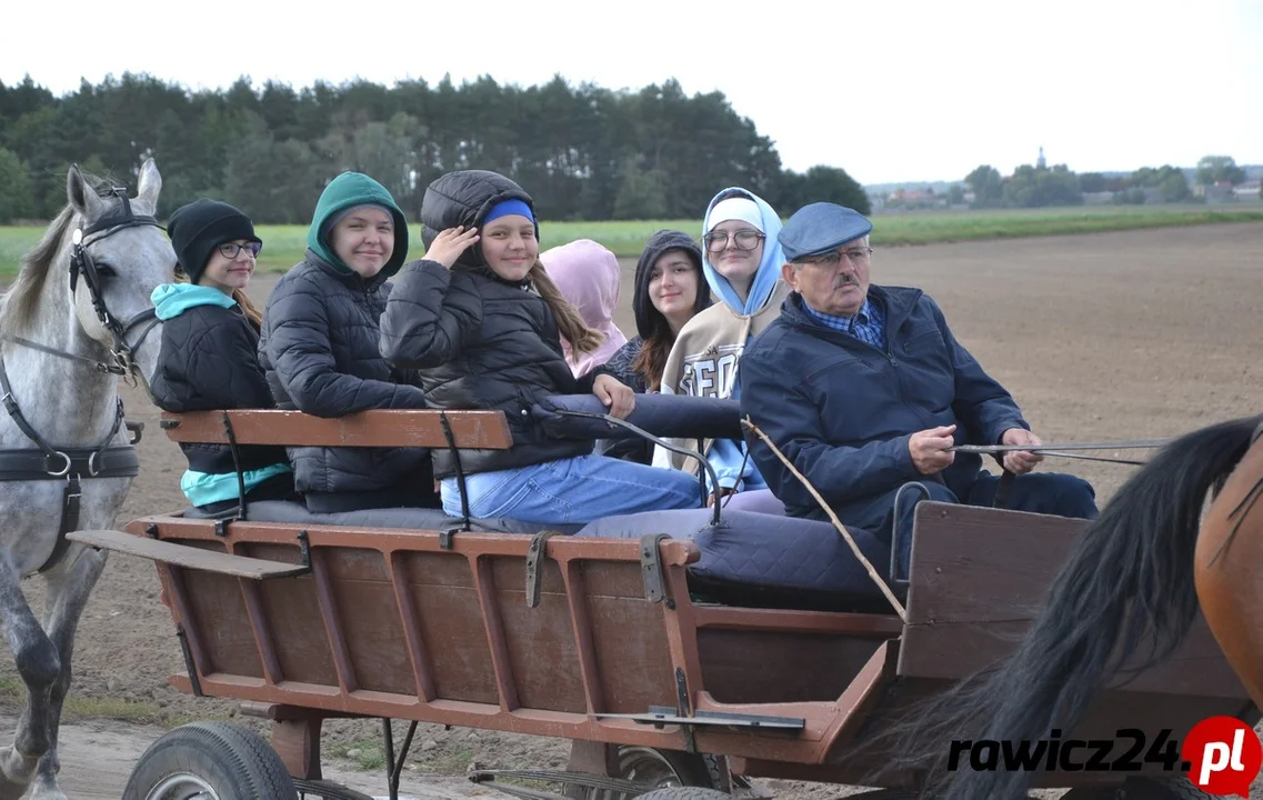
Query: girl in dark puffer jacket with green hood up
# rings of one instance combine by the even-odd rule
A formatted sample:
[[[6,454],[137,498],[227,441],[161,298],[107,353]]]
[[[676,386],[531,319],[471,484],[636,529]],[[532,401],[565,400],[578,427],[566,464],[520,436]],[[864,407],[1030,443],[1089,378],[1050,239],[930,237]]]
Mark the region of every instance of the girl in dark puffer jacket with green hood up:
[[[307,254],[268,298],[259,361],[279,408],[342,417],[373,408],[424,408],[426,397],[378,349],[388,278],[408,254],[394,197],[359,172],[325,188]],[[417,447],[290,447],[307,508],[438,507],[429,451]]]

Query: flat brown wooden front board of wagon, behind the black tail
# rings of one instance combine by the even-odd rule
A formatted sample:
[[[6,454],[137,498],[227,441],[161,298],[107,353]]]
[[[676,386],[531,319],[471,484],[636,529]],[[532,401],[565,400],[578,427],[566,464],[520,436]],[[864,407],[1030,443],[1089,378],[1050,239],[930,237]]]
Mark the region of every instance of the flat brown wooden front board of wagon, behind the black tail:
[[[918,504],[899,675],[959,680],[1015,651],[1086,524],[1045,514]],[[1132,680],[1128,690],[1247,696],[1201,614],[1178,650]]]

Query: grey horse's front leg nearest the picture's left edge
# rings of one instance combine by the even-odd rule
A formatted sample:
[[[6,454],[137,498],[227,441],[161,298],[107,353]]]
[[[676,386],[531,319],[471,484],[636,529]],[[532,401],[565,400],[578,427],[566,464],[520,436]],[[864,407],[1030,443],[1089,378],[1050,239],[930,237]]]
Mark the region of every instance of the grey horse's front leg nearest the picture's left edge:
[[[18,800],[48,752],[48,700],[62,672],[62,660],[32,613],[21,593],[21,578],[8,554],[0,557],[0,619],[18,674],[27,685],[27,708],[18,719],[13,744],[0,749],[0,800]]]

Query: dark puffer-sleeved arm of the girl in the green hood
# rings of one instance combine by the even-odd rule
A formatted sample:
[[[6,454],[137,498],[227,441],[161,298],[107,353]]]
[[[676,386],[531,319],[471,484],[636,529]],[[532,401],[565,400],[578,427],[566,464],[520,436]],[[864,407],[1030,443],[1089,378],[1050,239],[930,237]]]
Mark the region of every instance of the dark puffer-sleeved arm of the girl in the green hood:
[[[268,358],[294,406],[317,417],[342,417],[373,408],[424,408],[418,387],[357,378],[337,370],[325,297],[290,291],[273,298]]]

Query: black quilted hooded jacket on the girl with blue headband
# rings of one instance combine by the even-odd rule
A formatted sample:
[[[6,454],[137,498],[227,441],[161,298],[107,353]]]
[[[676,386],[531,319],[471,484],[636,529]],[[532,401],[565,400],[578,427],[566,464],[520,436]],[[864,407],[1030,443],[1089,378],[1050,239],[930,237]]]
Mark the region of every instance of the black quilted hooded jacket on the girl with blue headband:
[[[422,201],[422,239],[481,224],[501,200],[530,197],[493,172],[465,171],[438,178]],[[499,278],[481,248],[461,254],[448,270],[421,259],[405,264],[381,316],[381,354],[417,368],[433,408],[499,409],[508,417],[509,450],[462,450],[465,473],[514,469],[590,454],[592,442],[549,439],[530,406],[549,394],[586,394],[601,368],[576,380],[566,364],[557,320],[529,283]],[[434,451],[434,475],[456,474],[450,454]]]

